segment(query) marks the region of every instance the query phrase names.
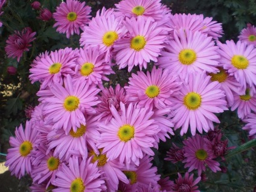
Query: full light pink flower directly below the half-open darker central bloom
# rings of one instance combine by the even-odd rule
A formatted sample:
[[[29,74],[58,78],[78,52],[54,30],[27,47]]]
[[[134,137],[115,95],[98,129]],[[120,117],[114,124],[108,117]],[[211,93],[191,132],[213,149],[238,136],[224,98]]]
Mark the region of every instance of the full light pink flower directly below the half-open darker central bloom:
[[[152,136],[159,132],[158,126],[152,125],[154,120],[150,120],[153,112],[136,107],[132,103],[128,107],[120,103],[120,114],[112,106],[110,110],[113,118],[106,125],[99,124],[101,138],[97,147],[104,148],[103,153],[106,153],[109,160],[120,158],[121,163],[125,161],[127,168],[130,162],[139,165],[143,152],[154,155],[150,149],[155,142]]]

